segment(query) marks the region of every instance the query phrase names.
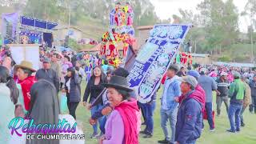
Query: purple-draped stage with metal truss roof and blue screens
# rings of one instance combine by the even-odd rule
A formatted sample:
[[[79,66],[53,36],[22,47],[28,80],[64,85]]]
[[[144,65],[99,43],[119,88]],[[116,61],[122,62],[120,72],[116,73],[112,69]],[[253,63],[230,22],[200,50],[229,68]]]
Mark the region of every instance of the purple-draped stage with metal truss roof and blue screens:
[[[38,36],[40,38],[36,38],[36,41],[41,42],[42,35],[44,37],[46,34],[52,35],[51,30],[55,26],[58,26],[58,23],[27,16],[18,16],[18,13],[2,14],[2,42],[4,44],[17,43],[19,41],[18,37],[22,34],[29,35],[29,37]],[[45,41],[48,41],[48,39]],[[33,41],[33,38],[30,38],[30,41]],[[51,41],[48,43],[51,43]]]

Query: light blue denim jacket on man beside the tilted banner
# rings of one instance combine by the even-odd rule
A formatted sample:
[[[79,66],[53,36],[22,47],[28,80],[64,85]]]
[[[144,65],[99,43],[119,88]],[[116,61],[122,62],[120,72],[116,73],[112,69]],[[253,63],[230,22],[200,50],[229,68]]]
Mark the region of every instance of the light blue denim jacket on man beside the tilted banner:
[[[178,102],[174,101],[174,97],[179,97],[182,95],[180,88],[181,82],[178,79],[179,77],[176,75],[174,78],[166,79],[161,101],[161,108],[163,110],[174,110],[175,108],[178,108]]]

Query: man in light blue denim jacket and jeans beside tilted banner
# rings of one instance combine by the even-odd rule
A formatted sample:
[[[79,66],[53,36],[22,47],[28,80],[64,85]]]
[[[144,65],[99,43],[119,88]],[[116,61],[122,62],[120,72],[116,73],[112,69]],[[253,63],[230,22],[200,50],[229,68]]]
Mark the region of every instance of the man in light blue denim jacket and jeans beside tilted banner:
[[[161,126],[165,139],[158,141],[159,143],[174,143],[175,138],[175,126],[177,122],[178,102],[175,101],[175,97],[181,96],[181,82],[176,75],[179,70],[177,65],[170,65],[167,70],[167,79],[163,87],[163,94],[161,98]],[[171,137],[167,130],[167,121],[170,122]]]

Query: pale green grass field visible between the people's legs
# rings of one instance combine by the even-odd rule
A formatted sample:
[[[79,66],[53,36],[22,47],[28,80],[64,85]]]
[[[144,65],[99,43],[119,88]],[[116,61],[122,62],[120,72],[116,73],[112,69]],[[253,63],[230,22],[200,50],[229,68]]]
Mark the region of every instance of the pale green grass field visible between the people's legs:
[[[84,82],[83,82],[84,83]],[[82,84],[82,94],[85,90],[85,84]],[[158,143],[158,140],[164,138],[162,128],[160,126],[160,103],[159,98],[162,94],[162,90],[158,91],[157,107],[154,111],[154,136],[152,138],[139,138],[139,142],[142,144]],[[214,102],[214,110],[216,110],[216,104]],[[86,110],[82,103],[79,104],[78,110],[76,111],[78,126],[82,126],[84,134],[86,134],[86,144],[97,144],[96,139],[90,139],[92,134],[92,126],[90,126],[88,119],[90,118],[90,111]],[[220,117],[216,117],[215,126],[216,130],[212,133],[209,131],[209,125],[207,121],[204,121],[205,129],[202,131],[201,138],[198,139],[197,143],[200,144],[256,144],[256,114],[250,114],[248,108],[245,111],[244,119],[246,126],[242,127],[242,131],[238,134],[227,133],[226,130],[230,128],[229,120],[227,118],[224,104],[222,104],[222,114]],[[144,130],[144,126],[142,126]]]

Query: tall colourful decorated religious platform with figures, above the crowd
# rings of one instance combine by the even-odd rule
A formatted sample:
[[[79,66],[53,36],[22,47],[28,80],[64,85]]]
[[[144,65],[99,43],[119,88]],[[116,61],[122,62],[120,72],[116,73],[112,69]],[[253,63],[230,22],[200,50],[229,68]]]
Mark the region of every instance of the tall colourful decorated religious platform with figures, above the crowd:
[[[110,26],[106,33],[102,34],[100,54],[107,59],[126,58],[128,47],[135,42],[134,36],[134,10],[129,2],[122,6],[116,3],[110,11]],[[122,54],[118,53],[122,49]]]

